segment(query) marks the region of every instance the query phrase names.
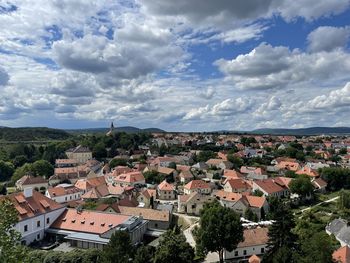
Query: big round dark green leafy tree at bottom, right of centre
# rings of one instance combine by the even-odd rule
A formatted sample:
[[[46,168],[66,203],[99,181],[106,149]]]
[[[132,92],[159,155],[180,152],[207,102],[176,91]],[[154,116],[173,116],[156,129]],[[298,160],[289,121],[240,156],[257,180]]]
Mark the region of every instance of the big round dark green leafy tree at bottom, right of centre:
[[[232,251],[243,241],[240,216],[218,201],[205,204],[199,225],[195,234],[197,248],[205,253],[218,252],[220,262],[223,262],[224,249]]]

